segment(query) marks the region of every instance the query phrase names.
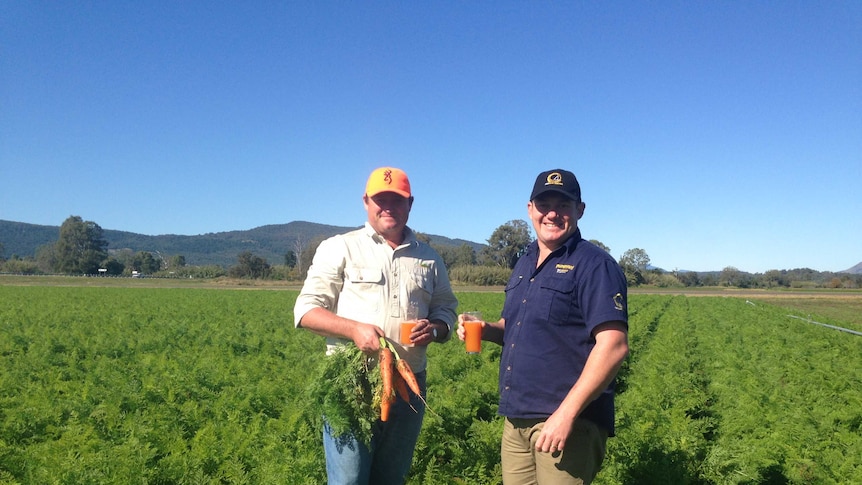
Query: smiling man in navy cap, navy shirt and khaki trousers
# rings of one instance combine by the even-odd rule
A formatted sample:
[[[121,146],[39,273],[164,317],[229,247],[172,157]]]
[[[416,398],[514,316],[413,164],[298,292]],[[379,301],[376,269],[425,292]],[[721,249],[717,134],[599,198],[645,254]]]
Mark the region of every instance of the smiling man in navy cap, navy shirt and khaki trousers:
[[[537,240],[506,285],[502,318],[482,324],[482,339],[503,346],[505,484],[589,484],[614,435],[614,379],[628,355],[626,279],[581,237],[585,207],[573,173],[539,174],[527,204]]]

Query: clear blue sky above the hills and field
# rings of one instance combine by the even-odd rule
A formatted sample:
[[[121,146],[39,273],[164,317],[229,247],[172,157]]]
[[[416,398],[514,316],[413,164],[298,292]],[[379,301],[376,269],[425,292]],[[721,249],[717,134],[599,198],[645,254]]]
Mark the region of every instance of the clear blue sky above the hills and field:
[[[671,270],[862,261],[862,2],[0,3],[0,219],[485,242],[572,170],[584,237]]]

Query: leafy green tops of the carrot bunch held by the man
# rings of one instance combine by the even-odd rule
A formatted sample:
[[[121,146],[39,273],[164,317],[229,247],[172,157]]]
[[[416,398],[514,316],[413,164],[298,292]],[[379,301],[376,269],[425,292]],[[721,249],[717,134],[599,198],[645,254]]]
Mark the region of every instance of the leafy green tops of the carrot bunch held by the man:
[[[351,434],[367,444],[380,417],[379,388],[376,361],[345,344],[324,357],[308,388],[309,404],[319,407],[335,436]]]

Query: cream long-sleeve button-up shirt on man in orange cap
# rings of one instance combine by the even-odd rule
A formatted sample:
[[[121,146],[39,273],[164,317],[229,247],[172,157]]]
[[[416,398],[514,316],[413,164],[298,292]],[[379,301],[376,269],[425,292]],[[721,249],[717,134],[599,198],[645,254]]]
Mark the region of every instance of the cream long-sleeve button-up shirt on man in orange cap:
[[[371,225],[326,239],[314,254],[293,309],[294,324],[321,307],[341,317],[382,328],[414,372],[425,370],[425,346],[402,347],[400,323],[409,302],[418,317],[445,323],[452,335],[458,300],[437,252],[405,228],[404,242],[392,248]],[[347,342],[326,339],[327,349]]]

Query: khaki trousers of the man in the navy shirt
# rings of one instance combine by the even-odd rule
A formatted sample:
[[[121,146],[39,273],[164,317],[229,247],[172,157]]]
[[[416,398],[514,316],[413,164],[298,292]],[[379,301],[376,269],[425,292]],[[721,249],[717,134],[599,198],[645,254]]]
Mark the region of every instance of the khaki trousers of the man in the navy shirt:
[[[500,457],[505,485],[588,485],[605,458],[608,433],[587,419],[575,420],[562,452],[536,451],[544,419],[509,419]]]

